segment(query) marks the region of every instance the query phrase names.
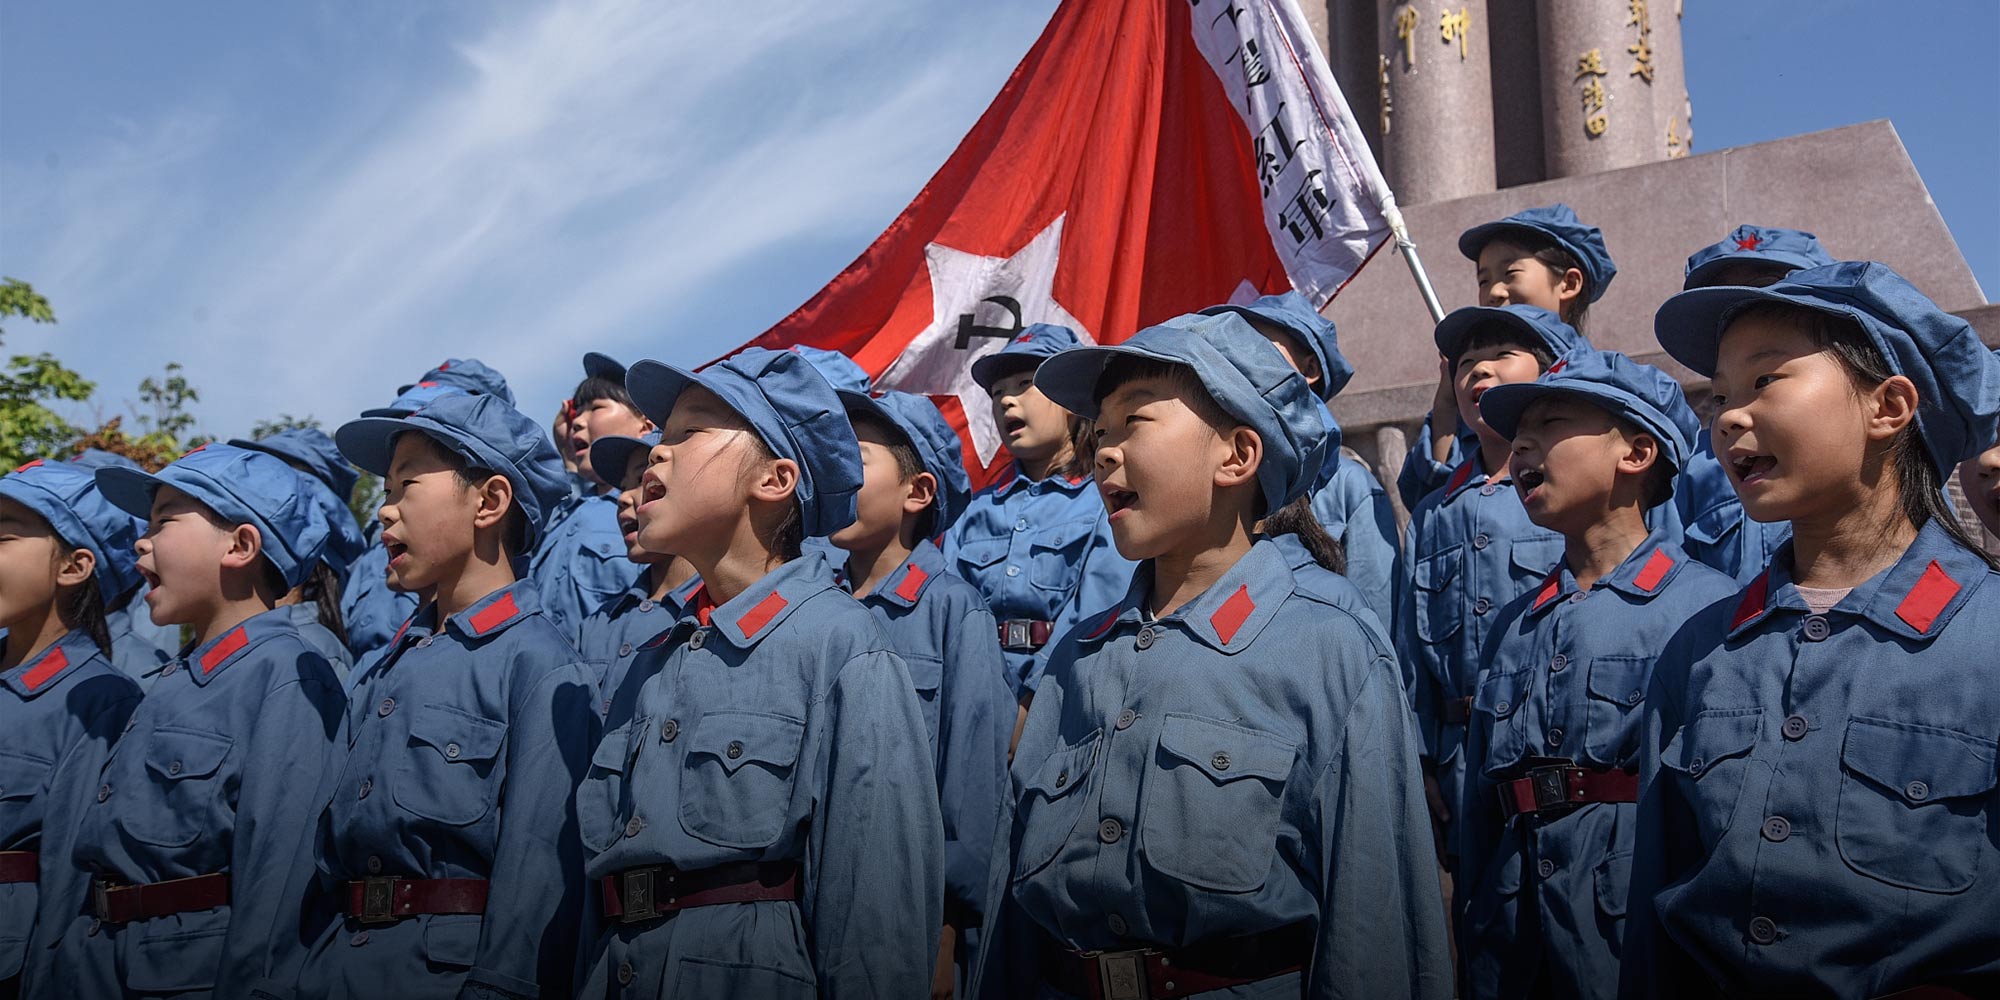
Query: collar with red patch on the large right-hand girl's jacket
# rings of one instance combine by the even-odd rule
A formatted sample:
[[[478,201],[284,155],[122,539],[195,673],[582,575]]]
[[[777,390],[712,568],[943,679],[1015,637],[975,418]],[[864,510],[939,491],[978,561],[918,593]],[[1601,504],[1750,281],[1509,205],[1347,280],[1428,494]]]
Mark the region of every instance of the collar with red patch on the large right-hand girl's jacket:
[[[1894,566],[1856,586],[1828,614],[1860,616],[1896,636],[1924,640],[1936,636],[1988,576],[1986,560],[1932,522],[1916,532]],[[1792,542],[1780,546],[1770,566],[1744,588],[1730,616],[1730,638],[1780,610],[1810,610],[1792,580]]]

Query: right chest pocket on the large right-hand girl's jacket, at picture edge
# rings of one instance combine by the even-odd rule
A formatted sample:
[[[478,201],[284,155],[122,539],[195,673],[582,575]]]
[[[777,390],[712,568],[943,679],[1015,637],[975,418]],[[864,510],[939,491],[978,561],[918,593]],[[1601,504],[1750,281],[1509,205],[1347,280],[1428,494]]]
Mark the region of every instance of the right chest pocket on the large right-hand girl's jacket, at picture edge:
[[[1996,780],[1996,744],[1874,718],[1840,744],[1840,856],[1892,886],[1960,892],[1978,876]]]

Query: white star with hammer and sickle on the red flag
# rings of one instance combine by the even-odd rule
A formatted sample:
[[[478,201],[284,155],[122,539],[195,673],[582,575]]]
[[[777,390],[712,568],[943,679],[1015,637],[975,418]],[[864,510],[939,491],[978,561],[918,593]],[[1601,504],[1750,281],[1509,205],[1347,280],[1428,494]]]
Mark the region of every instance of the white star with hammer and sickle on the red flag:
[[[1008,336],[1000,336],[1000,332],[1016,330],[1014,312],[996,298],[1018,304],[1020,326],[1038,322],[1068,326],[1076,330],[1078,340],[1096,342],[1084,324],[1056,302],[1054,282],[1056,258],[1062,250],[1062,220],[1064,216],[1056,216],[1048,228],[1028,240],[1028,246],[1004,258],[968,254],[936,242],[926,244],[930,326],[916,334],[902,356],[876,380],[876,388],[958,396],[966,408],[966,426],[972,430],[972,446],[980,454],[980,464],[992,462],[994,452],[1000,450],[1000,428],[994,426],[992,400],[972,380],[972,362],[1006,346]],[[966,320],[968,316],[970,320]],[[970,336],[960,338],[962,328],[970,328]]]

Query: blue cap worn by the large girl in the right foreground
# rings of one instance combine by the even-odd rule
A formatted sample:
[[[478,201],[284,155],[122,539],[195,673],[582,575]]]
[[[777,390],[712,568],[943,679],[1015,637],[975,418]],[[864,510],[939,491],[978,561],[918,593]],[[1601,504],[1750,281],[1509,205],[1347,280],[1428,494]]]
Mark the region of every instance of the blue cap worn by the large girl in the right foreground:
[[[1722,334],[1742,310],[1782,302],[1860,324],[1890,370],[1916,384],[1916,430],[1942,476],[1984,452],[2000,420],[2000,358],[1972,324],[1938,308],[1874,260],[1794,270],[1768,288],[1690,288],[1654,314],[1654,336],[1680,364],[1716,374]]]

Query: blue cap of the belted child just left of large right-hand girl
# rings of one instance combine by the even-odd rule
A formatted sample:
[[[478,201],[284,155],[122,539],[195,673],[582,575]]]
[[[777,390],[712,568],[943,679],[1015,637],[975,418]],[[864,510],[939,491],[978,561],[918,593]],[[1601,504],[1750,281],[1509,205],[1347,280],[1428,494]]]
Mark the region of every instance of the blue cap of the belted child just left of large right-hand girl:
[[[1528,406],[1544,396],[1576,396],[1638,424],[1660,442],[1674,468],[1686,468],[1694,438],[1702,432],[1702,422],[1688,408],[1688,396],[1674,376],[1616,350],[1590,348],[1566,354],[1534,382],[1486,390],[1480,396],[1480,416],[1486,418],[1486,426],[1512,438]]]

